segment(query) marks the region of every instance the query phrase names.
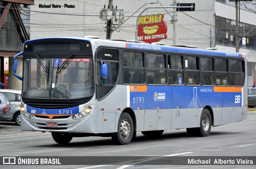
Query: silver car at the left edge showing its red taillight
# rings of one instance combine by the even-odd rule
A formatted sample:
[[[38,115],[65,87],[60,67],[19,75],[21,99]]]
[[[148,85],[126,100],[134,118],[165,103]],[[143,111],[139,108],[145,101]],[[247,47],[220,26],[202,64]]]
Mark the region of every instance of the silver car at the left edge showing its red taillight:
[[[11,104],[8,98],[0,93],[0,121],[10,120],[12,118],[10,112]]]

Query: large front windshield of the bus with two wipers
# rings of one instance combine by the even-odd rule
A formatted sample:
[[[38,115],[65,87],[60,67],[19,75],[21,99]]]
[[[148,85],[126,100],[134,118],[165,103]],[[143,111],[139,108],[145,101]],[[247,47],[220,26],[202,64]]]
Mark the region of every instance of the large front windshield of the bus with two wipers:
[[[24,59],[22,95],[28,98],[77,99],[94,93],[91,58]]]

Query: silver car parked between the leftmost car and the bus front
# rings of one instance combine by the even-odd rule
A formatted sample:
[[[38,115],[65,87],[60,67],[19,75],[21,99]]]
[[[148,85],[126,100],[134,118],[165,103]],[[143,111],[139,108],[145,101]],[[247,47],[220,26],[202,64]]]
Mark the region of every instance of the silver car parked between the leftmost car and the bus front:
[[[13,89],[0,89],[0,93],[3,93],[11,103],[11,120],[20,125],[20,104],[21,104],[21,90]]]

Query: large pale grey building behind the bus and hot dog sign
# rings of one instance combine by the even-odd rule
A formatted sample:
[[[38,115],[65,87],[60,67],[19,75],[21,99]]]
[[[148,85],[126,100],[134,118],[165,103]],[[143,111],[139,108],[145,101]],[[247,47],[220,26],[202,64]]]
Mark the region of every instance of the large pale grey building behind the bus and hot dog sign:
[[[175,2],[195,3],[195,10],[176,12],[173,8],[164,8],[176,6]],[[30,39],[91,35],[106,39],[110,34],[111,39],[135,40],[138,15],[148,8],[141,16],[163,15],[167,33],[160,42],[166,45],[193,45],[200,49],[236,52],[236,29],[239,29],[239,52],[247,54],[248,85],[254,85],[256,20],[252,18],[256,18],[256,0],[239,2],[239,26],[236,26],[235,2],[229,0],[156,0],[155,3],[113,0],[112,8],[117,9],[120,19],[124,20],[120,25],[119,16],[110,17],[112,31],[108,31],[106,20],[99,18],[100,11],[108,9],[106,3],[106,0],[35,0],[30,6]]]

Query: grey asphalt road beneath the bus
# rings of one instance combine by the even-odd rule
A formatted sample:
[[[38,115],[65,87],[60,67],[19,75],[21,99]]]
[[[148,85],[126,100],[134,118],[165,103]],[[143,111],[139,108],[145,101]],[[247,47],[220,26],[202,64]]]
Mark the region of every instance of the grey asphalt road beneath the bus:
[[[250,157],[256,156],[256,112],[248,113],[248,118],[237,123],[212,127],[208,137],[189,137],[186,129],[164,131],[160,137],[147,137],[140,132],[137,140],[129,145],[114,145],[109,137],[73,138],[68,145],[54,142],[50,133],[20,131],[14,122],[0,122],[0,156],[38,157],[70,156],[77,163],[86,159],[99,161],[92,165],[4,165],[3,168],[72,168],[72,169],[147,169],[147,168],[256,168],[254,165],[149,165],[154,158],[186,157]],[[123,157],[127,165],[104,164],[104,157]],[[138,160],[134,159],[138,157]],[[139,157],[147,157],[140,161]],[[73,161],[73,162],[74,162]],[[95,161],[95,160],[94,160]],[[146,163],[143,163],[145,162]],[[111,162],[111,161],[110,161]],[[157,163],[157,162],[156,162]],[[72,163],[73,164],[73,163]],[[166,164],[166,163],[164,163]],[[183,164],[183,163],[182,163]],[[212,164],[212,163],[211,163]],[[1,167],[1,164],[0,164]],[[1,168],[2,168],[1,167]]]

